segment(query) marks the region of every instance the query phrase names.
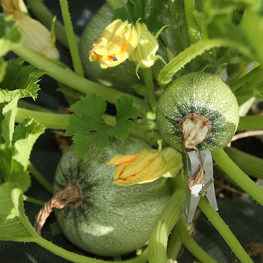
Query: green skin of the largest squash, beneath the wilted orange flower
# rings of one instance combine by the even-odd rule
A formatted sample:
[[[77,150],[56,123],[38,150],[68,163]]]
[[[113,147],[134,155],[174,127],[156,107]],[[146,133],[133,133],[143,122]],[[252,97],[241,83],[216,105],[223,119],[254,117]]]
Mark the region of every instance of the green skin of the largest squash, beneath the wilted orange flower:
[[[116,154],[134,154],[146,148],[150,149],[146,143],[128,138],[123,144],[111,142],[103,150],[93,147],[84,159],[73,154],[73,147],[64,153],[54,191],[78,180],[84,198],[79,208],[56,209],[55,215],[74,245],[100,256],[118,256],[145,245],[172,195],[170,180],[119,186],[113,183],[115,166],[105,164]]]

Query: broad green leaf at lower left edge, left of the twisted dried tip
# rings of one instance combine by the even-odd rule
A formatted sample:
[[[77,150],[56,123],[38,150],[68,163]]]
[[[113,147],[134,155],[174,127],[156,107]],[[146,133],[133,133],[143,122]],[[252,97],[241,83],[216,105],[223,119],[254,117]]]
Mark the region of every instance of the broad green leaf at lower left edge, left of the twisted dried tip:
[[[24,214],[23,193],[12,183],[0,186],[0,239],[29,241],[32,228]],[[31,240],[33,241],[33,240]]]

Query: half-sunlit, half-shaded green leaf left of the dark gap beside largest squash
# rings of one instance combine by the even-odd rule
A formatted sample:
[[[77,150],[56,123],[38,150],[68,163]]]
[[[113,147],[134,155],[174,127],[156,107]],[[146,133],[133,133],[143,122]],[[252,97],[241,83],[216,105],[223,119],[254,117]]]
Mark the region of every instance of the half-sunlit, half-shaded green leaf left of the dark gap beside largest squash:
[[[45,127],[31,118],[24,119],[16,127],[13,135],[13,145],[17,153],[14,159],[22,164],[24,169],[26,169],[29,164],[29,157],[33,145],[44,131]]]

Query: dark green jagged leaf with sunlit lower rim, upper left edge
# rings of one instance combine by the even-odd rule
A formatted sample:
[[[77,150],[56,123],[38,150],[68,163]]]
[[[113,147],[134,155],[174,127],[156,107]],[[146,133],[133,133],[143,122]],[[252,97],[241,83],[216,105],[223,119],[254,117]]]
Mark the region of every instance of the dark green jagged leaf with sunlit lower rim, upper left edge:
[[[6,75],[0,83],[0,103],[10,101],[14,97],[19,98],[32,97],[37,98],[39,90],[39,77],[44,75],[43,70],[36,70],[32,65],[22,66],[21,59],[12,59],[8,61]]]

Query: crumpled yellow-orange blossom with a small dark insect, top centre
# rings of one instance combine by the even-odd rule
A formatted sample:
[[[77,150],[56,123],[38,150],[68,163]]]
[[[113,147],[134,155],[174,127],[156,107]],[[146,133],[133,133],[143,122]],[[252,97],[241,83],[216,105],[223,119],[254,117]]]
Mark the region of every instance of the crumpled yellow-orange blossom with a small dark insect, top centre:
[[[114,20],[103,31],[93,49],[90,51],[90,61],[98,62],[101,68],[115,67],[125,61],[137,46],[141,27]]]

